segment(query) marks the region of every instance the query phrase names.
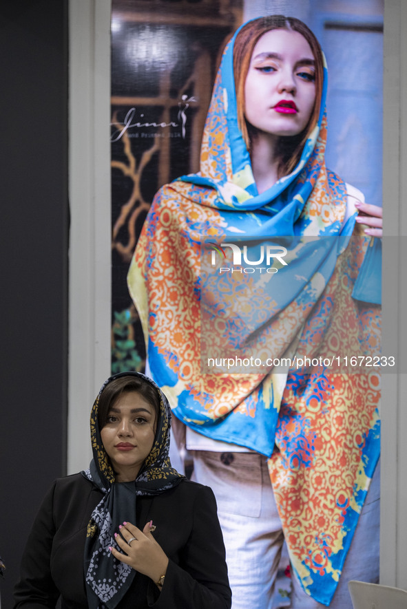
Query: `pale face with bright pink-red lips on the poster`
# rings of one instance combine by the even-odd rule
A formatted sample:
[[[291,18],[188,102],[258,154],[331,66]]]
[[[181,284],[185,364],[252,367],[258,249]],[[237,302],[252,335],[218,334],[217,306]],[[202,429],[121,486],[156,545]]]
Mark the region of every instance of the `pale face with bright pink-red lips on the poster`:
[[[315,104],[315,58],[299,32],[270,30],[253,49],[244,85],[244,115],[264,133],[296,136]]]

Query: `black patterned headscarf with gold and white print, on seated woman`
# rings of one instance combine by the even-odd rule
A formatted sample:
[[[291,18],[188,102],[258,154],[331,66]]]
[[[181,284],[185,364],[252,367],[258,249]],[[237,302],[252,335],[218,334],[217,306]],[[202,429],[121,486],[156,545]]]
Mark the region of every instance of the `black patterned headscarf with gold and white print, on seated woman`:
[[[99,399],[103,389],[122,376],[142,378],[157,390],[160,398],[154,444],[134,482],[115,482],[112,464],[103,447],[98,425]],[[92,512],[85,542],[85,581],[90,609],[97,609],[101,603],[108,609],[114,609],[132,584],[135,570],[114,558],[109,546],[117,547],[114,533],[119,524],[131,517],[136,520],[137,496],[163,493],[185,478],[171,467],[169,461],[170,425],[171,409],[167,398],[151,378],[140,372],[121,372],[111,376],[103,384],[94,402],[90,415],[93,460],[90,469],[82,474],[103,492],[103,499]]]

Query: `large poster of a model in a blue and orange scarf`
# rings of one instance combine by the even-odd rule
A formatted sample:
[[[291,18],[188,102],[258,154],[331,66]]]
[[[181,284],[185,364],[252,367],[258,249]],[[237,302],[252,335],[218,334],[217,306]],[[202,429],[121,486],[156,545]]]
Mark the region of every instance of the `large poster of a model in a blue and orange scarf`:
[[[291,571],[288,568],[287,575],[293,577],[293,586],[287,584],[287,577],[279,580],[280,597],[270,601],[275,607],[302,606],[300,596],[300,604],[295,605],[295,595],[303,592],[327,606],[332,597],[335,600],[344,557],[349,548],[351,556],[357,547],[357,542],[351,546],[351,540],[374,478],[379,451],[379,374],[377,367],[372,370],[371,363],[381,356],[381,271],[375,267],[379,264],[379,242],[373,237],[378,234],[377,208],[382,205],[382,15],[376,3],[367,7],[364,2],[355,2],[349,14],[342,12],[335,1],[298,3],[298,11],[295,6],[292,1],[163,1],[154,2],[151,10],[151,5],[142,0],[114,0],[112,11],[112,372],[144,370],[146,336],[139,313],[144,315],[150,340],[147,371],[169,394],[176,415],[175,431],[178,429],[180,438],[174,459],[179,453],[185,455],[185,447],[206,456],[219,456],[211,465],[205,461],[206,456],[196,458],[194,475],[198,476],[199,471],[202,478],[198,481],[209,484],[216,494],[229,558],[245,555],[251,544],[234,544],[233,526],[235,537],[240,531],[242,539],[244,526],[237,521],[230,524],[222,515],[225,505],[236,514],[231,496],[244,495],[257,483],[253,482],[254,474],[252,480],[247,480],[247,487],[237,473],[234,484],[222,476],[226,476],[228,468],[237,467],[239,460],[252,458],[253,453],[268,459],[267,465],[262,459],[262,467],[268,467],[273,483],[278,517],[289,545]],[[253,180],[253,175],[247,173],[247,154],[253,162],[253,141],[262,140],[259,131],[267,133],[269,129],[256,116],[262,111],[261,104],[256,106],[262,88],[260,81],[253,80],[255,85],[244,89],[250,143],[239,157],[233,146],[242,125],[238,122],[238,109],[236,131],[231,127],[233,121],[228,122],[235,100],[228,88],[233,89],[234,85],[228,83],[225,67],[229,61],[230,72],[230,62],[235,60],[228,60],[227,54],[222,61],[221,85],[217,81],[218,91],[215,88],[213,93],[201,158],[200,149],[227,42],[243,21],[275,12],[289,12],[302,19],[319,39],[328,63],[328,87],[325,90],[321,84],[317,95],[326,101],[327,114],[321,111],[315,118],[318,135],[313,139],[311,131],[306,133],[298,145],[295,162],[290,164],[291,159],[286,159],[273,183],[266,175],[266,186],[261,190],[264,175],[254,172]],[[277,44],[274,39],[273,44]],[[305,83],[306,89],[319,78],[315,76],[315,52],[311,51],[310,58],[307,48],[293,63],[300,85],[284,83],[286,96],[278,109],[283,117],[301,113],[294,89],[287,87],[297,87],[298,91]],[[253,70],[262,74],[280,70],[284,52],[261,48],[258,56],[267,61],[264,65],[254,64]],[[259,109],[249,120],[250,92],[253,107]],[[239,100],[236,107],[238,104]],[[289,136],[305,132],[306,125],[309,122]],[[254,135],[253,126],[257,130]],[[284,139],[278,129],[271,135]],[[220,167],[216,158],[222,154],[225,167]],[[322,165],[326,171],[324,184]],[[260,162],[258,168],[261,167]],[[309,167],[308,173],[300,173],[304,167]],[[136,293],[141,283],[138,275],[133,275],[132,296],[140,305],[137,310],[129,296],[126,277],[145,218],[157,191],[186,174],[194,177],[182,178],[160,192],[160,201],[174,215],[158,217],[156,203],[147,233],[141,237],[147,253],[145,257],[139,253],[140,268],[144,265],[151,281],[147,309],[143,310],[144,296]],[[229,180],[231,174],[233,180]],[[342,179],[337,179],[336,174]],[[261,212],[259,206],[244,206],[247,200],[261,197],[262,191],[271,192],[286,177],[291,180],[289,188],[278,186],[280,190],[273,191],[274,209],[266,200]],[[231,183],[236,190],[231,191]],[[372,209],[366,210],[364,199]],[[345,202],[343,213],[335,207],[340,200]],[[280,230],[279,220],[273,220],[284,206],[289,209],[289,202],[308,210],[298,211],[303,220],[295,233],[299,241],[290,243],[286,237],[292,235]],[[300,208],[294,203],[290,213],[295,223]],[[240,210],[239,205],[244,213],[235,213]],[[212,213],[213,209],[216,211]],[[235,213],[233,224],[231,209]],[[355,220],[357,211],[359,220],[364,215],[365,220],[373,217],[373,222]],[[265,214],[269,214],[267,234],[272,235],[272,242],[264,240],[259,228],[264,226]],[[174,231],[171,233],[171,242],[167,220],[182,226],[176,236]],[[196,235],[204,224],[205,235],[200,235],[200,241]],[[353,226],[359,229],[354,231]],[[225,227],[227,239],[221,230]],[[231,233],[240,240],[233,239]],[[319,238],[317,248],[315,235]],[[337,235],[342,241],[335,241],[334,246],[332,239]],[[367,241],[362,246],[363,235],[367,235]],[[276,236],[283,239],[276,241]],[[307,242],[306,237],[311,241]],[[206,258],[202,254],[201,266],[191,270],[198,248],[206,251]],[[364,264],[364,260],[368,262]],[[263,262],[264,273],[259,266]],[[286,266],[291,268],[289,280],[289,275],[284,275]],[[368,269],[372,268],[370,273]],[[193,289],[190,277],[194,272]],[[214,273],[218,275],[215,277]],[[275,275],[273,284],[270,275]],[[301,282],[302,288],[298,288]],[[266,284],[272,285],[273,291],[267,291]],[[196,297],[198,289],[200,301]],[[182,316],[177,317],[180,302]],[[196,336],[188,327],[196,319],[200,321],[200,342],[199,337],[194,342]],[[338,336],[342,341],[339,346]],[[280,365],[283,360],[284,365]],[[255,365],[244,361],[255,361]],[[267,363],[265,375],[266,361],[271,363]],[[178,421],[185,427],[179,426]],[[378,498],[377,484],[376,468],[371,503]],[[222,491],[222,485],[227,491]],[[258,486],[254,487],[253,493],[258,491]],[[270,484],[268,489],[271,492]],[[251,516],[244,509],[240,513],[240,506],[238,515],[244,522]],[[366,562],[372,557],[373,567],[365,573],[371,581],[378,574],[377,519],[378,511],[371,515],[372,528],[366,533],[375,540],[365,556]],[[278,564],[280,550],[281,546],[271,562]],[[268,552],[270,548],[258,553],[256,550],[254,560],[264,562]],[[233,590],[240,590],[236,583],[238,569],[230,558]],[[354,577],[355,572],[352,573]],[[267,577],[264,579],[268,581]],[[271,579],[267,592],[261,592],[263,596],[273,588]],[[247,582],[257,592],[262,590],[251,577],[247,577]],[[337,594],[346,595],[341,586]],[[236,592],[236,608],[244,604],[239,604],[239,598],[243,599],[239,595]],[[332,606],[351,606],[344,596],[337,598],[342,600],[336,602],[343,604]],[[264,608],[271,607],[267,602],[264,601]]]

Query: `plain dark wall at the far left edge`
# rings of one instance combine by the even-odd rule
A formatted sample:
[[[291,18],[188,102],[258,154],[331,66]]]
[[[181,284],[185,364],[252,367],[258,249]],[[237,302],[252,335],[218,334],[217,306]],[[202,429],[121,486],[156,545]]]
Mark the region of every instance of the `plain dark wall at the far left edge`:
[[[65,473],[67,0],[0,3],[0,581]]]

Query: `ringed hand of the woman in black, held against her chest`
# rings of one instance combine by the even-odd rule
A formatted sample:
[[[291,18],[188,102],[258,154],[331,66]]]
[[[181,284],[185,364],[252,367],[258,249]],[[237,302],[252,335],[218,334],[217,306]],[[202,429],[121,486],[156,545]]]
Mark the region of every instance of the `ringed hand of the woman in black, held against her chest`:
[[[139,573],[147,575],[156,584],[161,575],[165,575],[168,558],[163,548],[154,539],[151,529],[151,521],[147,522],[143,531],[130,522],[123,522],[119,526],[119,533],[114,533],[116,543],[123,550],[123,554],[112,547],[110,551],[115,558],[125,562]],[[134,538],[133,541],[132,538]]]

